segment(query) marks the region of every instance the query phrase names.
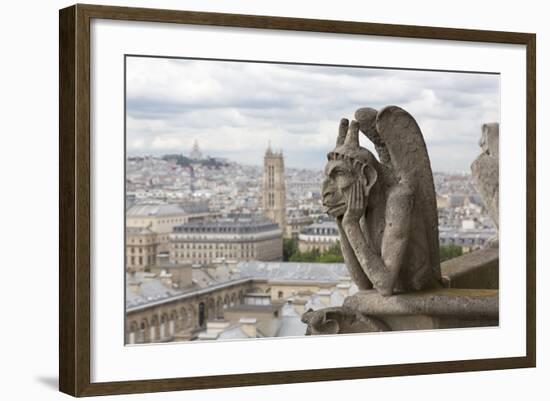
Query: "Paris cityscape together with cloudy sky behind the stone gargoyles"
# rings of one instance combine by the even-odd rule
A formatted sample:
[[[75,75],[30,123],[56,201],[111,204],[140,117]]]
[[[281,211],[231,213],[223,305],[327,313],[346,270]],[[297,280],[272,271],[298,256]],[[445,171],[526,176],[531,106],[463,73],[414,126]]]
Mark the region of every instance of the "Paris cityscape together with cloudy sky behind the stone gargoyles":
[[[304,336],[306,312],[358,292],[321,199],[338,121],[358,107],[398,104],[421,127],[442,261],[498,235],[470,172],[499,120],[498,75],[125,62],[125,344]]]

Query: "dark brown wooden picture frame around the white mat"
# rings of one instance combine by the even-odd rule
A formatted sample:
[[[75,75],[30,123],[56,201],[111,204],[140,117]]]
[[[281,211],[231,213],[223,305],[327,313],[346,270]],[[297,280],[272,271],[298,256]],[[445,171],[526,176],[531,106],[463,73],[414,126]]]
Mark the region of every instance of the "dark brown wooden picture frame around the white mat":
[[[493,359],[344,367],[92,383],[90,380],[90,21],[94,18],[517,44],[526,47],[527,243],[526,355]],[[534,367],[535,312],[535,43],[530,33],[373,24],[194,11],[74,5],[59,14],[59,388],[73,396]]]

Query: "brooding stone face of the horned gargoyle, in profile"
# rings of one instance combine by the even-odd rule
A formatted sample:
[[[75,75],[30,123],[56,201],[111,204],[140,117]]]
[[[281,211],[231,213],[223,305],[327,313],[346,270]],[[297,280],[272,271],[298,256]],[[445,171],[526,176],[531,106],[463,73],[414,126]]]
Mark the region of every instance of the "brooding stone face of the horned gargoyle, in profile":
[[[356,172],[347,160],[330,160],[325,166],[322,196],[325,211],[332,217],[343,216],[346,204],[346,192],[356,180]]]

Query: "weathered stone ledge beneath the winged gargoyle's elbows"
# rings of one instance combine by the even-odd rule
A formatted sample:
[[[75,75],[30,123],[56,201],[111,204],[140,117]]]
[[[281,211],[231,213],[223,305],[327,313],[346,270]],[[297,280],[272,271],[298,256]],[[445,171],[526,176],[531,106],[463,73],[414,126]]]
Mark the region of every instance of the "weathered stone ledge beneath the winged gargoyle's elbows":
[[[308,334],[498,326],[498,290],[444,288],[389,297],[361,291],[344,305],[309,311]]]

